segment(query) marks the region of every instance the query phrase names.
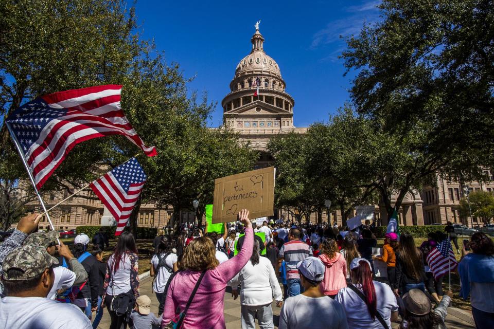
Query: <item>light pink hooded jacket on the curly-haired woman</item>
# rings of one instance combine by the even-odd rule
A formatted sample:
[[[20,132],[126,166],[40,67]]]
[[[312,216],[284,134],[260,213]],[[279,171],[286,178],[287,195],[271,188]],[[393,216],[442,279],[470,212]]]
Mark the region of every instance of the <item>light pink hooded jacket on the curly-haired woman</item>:
[[[319,256],[319,259],[326,266],[324,279],[320,288],[327,296],[338,294],[341,288],[346,287],[346,261],[341,253],[337,252],[333,259],[329,259],[326,254]]]

